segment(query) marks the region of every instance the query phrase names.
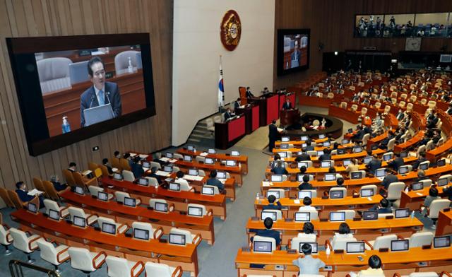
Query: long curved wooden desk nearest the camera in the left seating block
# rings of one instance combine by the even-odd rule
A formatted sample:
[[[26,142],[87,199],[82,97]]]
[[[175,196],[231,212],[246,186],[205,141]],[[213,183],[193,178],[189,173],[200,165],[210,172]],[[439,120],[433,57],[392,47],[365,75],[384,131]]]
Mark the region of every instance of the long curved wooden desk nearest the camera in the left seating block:
[[[182,266],[192,276],[198,275],[198,244],[179,246],[160,240],[136,240],[124,234],[110,235],[94,228],[79,228],[66,220],[52,220],[33,214],[25,209],[11,213],[11,218],[20,224],[20,229],[73,247],[88,248],[93,252],[104,251],[107,255],[122,257],[129,261],[153,261],[169,266]]]

